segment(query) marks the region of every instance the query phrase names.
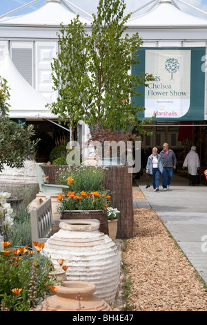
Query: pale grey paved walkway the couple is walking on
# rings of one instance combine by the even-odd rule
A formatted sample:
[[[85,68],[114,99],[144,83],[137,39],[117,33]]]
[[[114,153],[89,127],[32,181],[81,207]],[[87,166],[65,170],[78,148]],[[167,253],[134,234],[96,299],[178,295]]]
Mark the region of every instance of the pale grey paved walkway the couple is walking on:
[[[207,186],[189,186],[188,179],[176,174],[168,191],[160,186],[153,192],[151,183],[146,189],[145,175],[136,181],[146,200],[134,199],[134,207],[155,210],[207,284]]]

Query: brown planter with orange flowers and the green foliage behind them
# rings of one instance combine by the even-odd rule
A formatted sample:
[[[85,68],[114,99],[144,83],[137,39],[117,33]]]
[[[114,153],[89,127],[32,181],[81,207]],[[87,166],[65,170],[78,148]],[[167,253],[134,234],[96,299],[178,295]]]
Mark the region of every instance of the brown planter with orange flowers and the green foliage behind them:
[[[108,234],[110,193],[103,188],[105,173],[105,167],[84,165],[58,173],[58,183],[70,189],[57,198],[61,219],[98,219],[99,230]]]

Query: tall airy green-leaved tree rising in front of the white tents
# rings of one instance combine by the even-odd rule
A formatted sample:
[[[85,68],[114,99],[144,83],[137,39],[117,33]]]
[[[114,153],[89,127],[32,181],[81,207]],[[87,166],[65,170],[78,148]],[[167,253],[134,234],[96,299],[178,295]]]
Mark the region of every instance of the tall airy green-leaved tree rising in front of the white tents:
[[[90,33],[78,16],[67,27],[61,25],[60,50],[52,63],[59,97],[48,106],[68,127],[83,120],[92,129],[128,129],[144,110],[131,98],[140,95],[137,88],[152,75],[129,73],[132,64],[139,64],[135,54],[142,40],[138,33],[126,33],[130,15],[124,17],[125,8],[124,0],[99,0]]]

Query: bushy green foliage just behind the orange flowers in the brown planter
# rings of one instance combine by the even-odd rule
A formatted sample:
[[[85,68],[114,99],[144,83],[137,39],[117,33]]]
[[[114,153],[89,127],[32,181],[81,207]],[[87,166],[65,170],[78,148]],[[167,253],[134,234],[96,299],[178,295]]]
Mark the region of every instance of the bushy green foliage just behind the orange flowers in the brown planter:
[[[93,192],[103,190],[103,180],[106,174],[106,167],[79,165],[69,171],[57,172],[57,183],[68,185],[68,177],[73,181],[69,185],[70,191]]]

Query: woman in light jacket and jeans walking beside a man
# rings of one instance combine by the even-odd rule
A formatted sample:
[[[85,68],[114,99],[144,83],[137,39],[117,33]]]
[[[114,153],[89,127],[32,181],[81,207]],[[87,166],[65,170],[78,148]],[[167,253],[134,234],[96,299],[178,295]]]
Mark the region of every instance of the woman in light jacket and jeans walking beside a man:
[[[159,178],[163,171],[161,157],[157,154],[157,148],[152,149],[152,154],[148,157],[146,173],[150,174],[155,192],[159,191]]]

